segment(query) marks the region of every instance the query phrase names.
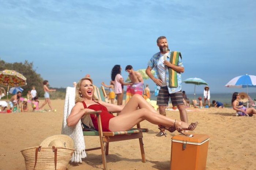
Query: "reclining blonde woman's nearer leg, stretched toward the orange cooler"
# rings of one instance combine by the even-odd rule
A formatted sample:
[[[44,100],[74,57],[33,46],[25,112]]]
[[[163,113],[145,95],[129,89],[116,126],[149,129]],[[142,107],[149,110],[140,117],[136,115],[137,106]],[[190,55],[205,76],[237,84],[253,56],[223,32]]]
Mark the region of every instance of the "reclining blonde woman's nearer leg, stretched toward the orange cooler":
[[[129,114],[120,114],[109,120],[109,130],[111,131],[125,131],[131,129],[135,124],[147,120],[153,124],[162,124],[163,126],[170,127],[174,125],[173,119],[166,116],[156,114],[155,112],[149,111],[146,108],[131,111]],[[176,128],[185,129],[188,128],[188,123],[176,120]]]

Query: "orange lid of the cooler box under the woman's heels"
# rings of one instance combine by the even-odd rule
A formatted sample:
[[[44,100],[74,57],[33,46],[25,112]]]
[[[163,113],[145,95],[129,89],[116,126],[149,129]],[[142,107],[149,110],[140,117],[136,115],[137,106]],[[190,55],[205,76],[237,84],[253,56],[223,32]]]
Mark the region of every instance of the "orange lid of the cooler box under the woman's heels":
[[[190,134],[185,133],[187,136],[179,134],[172,137],[172,142],[187,143],[192,145],[202,145],[209,141],[210,136],[205,134]]]

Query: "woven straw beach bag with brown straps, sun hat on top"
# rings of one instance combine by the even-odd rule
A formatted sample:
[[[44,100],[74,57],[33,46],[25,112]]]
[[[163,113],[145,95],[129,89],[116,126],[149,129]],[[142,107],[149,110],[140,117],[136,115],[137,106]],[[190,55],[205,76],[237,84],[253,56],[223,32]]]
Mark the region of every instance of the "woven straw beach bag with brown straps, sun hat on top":
[[[74,153],[74,141],[68,135],[54,135],[37,147],[21,150],[26,170],[65,170]]]

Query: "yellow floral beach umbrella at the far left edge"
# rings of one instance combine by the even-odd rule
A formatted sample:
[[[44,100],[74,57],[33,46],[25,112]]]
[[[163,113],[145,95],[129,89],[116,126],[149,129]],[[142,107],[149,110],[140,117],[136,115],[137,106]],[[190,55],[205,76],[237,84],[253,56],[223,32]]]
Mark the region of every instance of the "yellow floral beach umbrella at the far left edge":
[[[17,71],[14,70],[3,70],[0,71],[0,85],[6,86],[7,88],[7,100],[9,87],[25,86],[27,84],[26,78]]]

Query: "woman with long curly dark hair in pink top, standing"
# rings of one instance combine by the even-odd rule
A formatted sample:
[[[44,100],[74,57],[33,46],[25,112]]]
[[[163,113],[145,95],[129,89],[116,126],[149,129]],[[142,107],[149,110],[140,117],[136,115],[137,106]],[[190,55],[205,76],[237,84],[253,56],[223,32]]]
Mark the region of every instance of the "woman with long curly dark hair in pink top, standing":
[[[111,71],[111,80],[114,82],[114,91],[117,97],[117,105],[123,105],[124,85],[132,85],[132,83],[124,83],[124,79],[121,76],[121,66],[115,65]]]

